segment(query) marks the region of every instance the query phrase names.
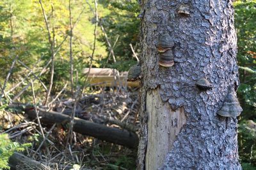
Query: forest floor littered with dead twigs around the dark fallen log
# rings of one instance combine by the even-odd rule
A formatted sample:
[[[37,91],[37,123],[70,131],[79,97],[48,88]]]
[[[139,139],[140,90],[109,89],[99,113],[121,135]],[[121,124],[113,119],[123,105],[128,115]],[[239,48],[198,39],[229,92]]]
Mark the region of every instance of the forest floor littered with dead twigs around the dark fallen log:
[[[93,94],[83,94],[79,101],[68,98],[64,92],[54,103],[47,106],[47,111],[71,116],[76,106],[75,116],[80,119],[137,133],[138,89],[97,87],[92,91]],[[40,111],[44,107],[36,108]],[[0,126],[3,127],[1,132],[8,133],[12,141],[31,143],[31,147],[26,148],[25,152],[13,155],[14,158],[10,160],[12,167],[16,166],[17,169],[76,169],[76,166],[81,169],[136,168],[136,149],[108,143],[74,131],[70,137],[68,136],[70,122],[61,124],[38,122],[36,118],[29,118],[22,108],[28,108],[28,104],[15,103],[0,111]],[[24,159],[17,160],[20,155]],[[33,167],[36,164],[39,166]]]

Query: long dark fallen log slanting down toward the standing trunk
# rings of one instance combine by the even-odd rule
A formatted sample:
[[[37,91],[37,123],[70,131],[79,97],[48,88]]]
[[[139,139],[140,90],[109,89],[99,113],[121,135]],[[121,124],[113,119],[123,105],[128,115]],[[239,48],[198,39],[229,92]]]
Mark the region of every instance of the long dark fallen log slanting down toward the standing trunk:
[[[38,109],[38,112],[39,117],[41,117],[40,121],[44,124],[67,124],[71,119],[68,115],[54,111]],[[25,114],[28,115],[29,118],[36,118],[36,112],[33,108],[27,108]],[[95,124],[81,118],[74,118],[73,131],[129,148],[138,147],[139,139],[134,132],[108,127],[102,124]]]

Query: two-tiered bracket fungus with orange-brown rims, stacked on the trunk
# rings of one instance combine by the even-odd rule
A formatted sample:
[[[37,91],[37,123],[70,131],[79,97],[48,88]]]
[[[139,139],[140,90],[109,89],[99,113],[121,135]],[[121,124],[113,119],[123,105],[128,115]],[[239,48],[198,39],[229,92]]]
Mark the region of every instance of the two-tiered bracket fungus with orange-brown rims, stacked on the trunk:
[[[174,42],[168,33],[162,34],[158,38],[157,51],[159,52],[159,65],[163,67],[172,67],[174,57],[172,49]]]

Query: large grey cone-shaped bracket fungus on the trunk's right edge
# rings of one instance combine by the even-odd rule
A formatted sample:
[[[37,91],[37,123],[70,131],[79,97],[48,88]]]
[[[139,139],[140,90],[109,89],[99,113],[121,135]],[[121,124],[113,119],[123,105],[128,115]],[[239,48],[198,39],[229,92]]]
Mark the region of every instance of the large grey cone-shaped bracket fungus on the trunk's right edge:
[[[234,87],[228,87],[228,94],[224,99],[223,106],[218,111],[218,115],[221,117],[238,117],[242,111]]]

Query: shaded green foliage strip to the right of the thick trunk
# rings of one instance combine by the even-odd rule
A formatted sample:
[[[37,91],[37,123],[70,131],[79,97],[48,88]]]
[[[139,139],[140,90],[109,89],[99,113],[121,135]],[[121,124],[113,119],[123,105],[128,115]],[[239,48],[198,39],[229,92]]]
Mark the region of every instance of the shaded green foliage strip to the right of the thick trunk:
[[[236,1],[235,24],[237,30],[237,60],[241,87],[238,90],[244,113],[248,118],[256,118],[256,1]]]

